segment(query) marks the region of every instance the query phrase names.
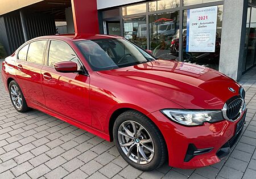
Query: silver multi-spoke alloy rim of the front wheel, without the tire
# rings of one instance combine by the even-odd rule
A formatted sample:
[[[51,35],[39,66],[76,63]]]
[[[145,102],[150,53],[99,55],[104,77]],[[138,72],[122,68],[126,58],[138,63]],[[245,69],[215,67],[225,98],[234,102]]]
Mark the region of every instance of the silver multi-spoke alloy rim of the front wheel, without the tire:
[[[125,155],[137,164],[148,164],[154,157],[152,137],[138,122],[123,122],[118,129],[118,142]]]

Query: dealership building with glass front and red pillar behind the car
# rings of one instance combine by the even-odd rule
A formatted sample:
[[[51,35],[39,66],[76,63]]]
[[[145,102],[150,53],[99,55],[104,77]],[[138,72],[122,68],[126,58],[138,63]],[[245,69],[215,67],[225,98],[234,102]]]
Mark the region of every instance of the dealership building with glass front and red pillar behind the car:
[[[256,65],[256,0],[0,2],[0,42],[7,55],[38,36],[101,33],[123,36],[157,58],[207,66],[236,80]]]

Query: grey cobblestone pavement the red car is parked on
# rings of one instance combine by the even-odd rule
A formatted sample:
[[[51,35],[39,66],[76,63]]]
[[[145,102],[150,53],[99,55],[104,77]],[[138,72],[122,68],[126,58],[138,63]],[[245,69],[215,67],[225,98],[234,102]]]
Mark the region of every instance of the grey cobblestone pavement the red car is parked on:
[[[227,160],[196,170],[164,164],[141,172],[114,143],[37,110],[16,112],[0,79],[0,178],[255,178],[256,68],[240,83],[247,91],[247,124]]]

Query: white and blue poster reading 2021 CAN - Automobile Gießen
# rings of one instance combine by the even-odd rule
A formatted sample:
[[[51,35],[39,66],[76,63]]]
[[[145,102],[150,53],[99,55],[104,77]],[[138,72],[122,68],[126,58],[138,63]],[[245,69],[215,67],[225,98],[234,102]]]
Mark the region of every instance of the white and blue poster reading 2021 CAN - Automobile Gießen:
[[[217,6],[187,12],[187,52],[215,52]]]

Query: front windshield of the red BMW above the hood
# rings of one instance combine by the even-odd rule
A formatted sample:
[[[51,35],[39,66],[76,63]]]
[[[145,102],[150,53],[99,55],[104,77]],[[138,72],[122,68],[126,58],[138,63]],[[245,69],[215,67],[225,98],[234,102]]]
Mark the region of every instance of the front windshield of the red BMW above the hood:
[[[93,71],[119,69],[155,60],[125,39],[82,40],[75,43]]]

